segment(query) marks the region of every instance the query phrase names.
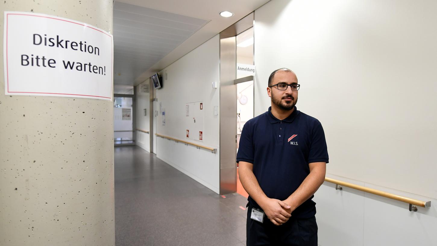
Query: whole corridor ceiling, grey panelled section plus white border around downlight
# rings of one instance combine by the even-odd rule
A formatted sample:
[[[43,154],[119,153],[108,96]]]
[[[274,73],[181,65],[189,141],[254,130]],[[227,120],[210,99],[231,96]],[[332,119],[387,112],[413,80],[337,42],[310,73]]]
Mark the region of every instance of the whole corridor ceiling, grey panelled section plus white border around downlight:
[[[114,2],[114,84],[138,85],[268,1]]]

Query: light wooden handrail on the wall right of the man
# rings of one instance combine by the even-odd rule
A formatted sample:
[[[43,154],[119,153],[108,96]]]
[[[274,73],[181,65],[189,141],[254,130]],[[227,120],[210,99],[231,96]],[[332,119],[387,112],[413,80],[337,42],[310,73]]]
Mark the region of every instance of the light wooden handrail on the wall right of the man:
[[[420,207],[423,207],[423,208],[431,207],[431,201],[419,201],[419,200],[415,200],[415,199],[411,199],[411,198],[402,197],[402,196],[398,196],[398,195],[395,195],[395,194],[387,193],[387,192],[384,192],[384,191],[378,191],[378,190],[375,190],[375,189],[372,189],[372,188],[368,188],[368,187],[364,187],[364,186],[357,185],[357,184],[350,184],[350,183],[343,182],[343,181],[340,181],[340,180],[334,180],[334,179],[331,179],[331,178],[325,178],[325,181],[329,182],[329,183],[345,186],[345,187],[350,187],[350,188],[353,188],[355,190],[359,190],[359,191],[364,191],[364,192],[367,192],[367,193],[375,194],[375,195],[378,195],[378,196],[391,198],[391,199],[394,199],[394,200],[397,200],[397,201],[406,202],[406,203],[410,204],[410,211],[411,211],[411,204],[416,205],[416,206],[420,206]]]

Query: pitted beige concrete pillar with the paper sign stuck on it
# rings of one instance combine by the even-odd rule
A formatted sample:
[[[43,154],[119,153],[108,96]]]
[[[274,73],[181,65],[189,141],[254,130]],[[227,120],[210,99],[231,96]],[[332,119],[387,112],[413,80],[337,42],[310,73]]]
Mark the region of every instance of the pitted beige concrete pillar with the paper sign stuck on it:
[[[112,33],[112,0],[0,2],[0,245],[108,246],[114,238],[113,103],[6,96],[3,11],[65,17]]]

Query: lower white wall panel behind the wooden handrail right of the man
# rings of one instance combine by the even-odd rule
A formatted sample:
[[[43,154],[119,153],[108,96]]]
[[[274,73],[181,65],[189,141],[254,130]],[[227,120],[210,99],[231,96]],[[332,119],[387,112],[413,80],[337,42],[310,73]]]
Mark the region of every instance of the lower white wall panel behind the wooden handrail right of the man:
[[[329,165],[329,164],[328,164]],[[364,187],[431,201],[431,208],[408,210],[409,204],[325,182],[314,195],[319,245],[437,245],[437,199],[327,174]]]

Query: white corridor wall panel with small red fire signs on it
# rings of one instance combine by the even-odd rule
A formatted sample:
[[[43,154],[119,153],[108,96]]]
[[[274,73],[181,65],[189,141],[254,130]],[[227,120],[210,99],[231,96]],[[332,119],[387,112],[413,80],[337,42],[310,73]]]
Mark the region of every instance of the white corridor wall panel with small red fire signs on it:
[[[203,142],[204,132],[203,101],[185,104],[186,139]]]

